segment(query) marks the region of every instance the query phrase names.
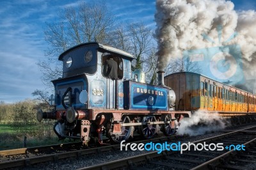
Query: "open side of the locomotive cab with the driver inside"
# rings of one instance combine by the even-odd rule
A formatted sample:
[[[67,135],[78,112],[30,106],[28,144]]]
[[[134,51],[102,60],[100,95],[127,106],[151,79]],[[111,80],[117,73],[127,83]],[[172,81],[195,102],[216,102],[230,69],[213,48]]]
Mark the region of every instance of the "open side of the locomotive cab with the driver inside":
[[[111,61],[112,60],[112,61]],[[109,62],[110,61],[110,62]],[[114,62],[113,62],[114,61]],[[109,75],[109,70],[108,69],[108,65],[109,63],[115,63],[117,64],[115,66],[115,70],[113,70],[113,74],[111,74],[111,76]],[[122,58],[119,58],[118,56],[109,54],[109,53],[103,53],[102,54],[102,75],[104,75],[104,77],[112,77],[112,79],[115,79],[116,74],[118,79],[122,79],[124,72],[123,72],[123,60]]]

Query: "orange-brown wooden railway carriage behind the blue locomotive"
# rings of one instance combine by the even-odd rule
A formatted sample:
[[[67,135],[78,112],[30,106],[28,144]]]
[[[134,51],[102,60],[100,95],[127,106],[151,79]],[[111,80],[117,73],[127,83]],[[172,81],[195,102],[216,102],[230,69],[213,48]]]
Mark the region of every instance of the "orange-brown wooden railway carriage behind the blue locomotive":
[[[206,110],[221,116],[248,116],[256,112],[255,95],[199,73],[172,73],[164,77],[164,83],[176,93],[177,111]]]

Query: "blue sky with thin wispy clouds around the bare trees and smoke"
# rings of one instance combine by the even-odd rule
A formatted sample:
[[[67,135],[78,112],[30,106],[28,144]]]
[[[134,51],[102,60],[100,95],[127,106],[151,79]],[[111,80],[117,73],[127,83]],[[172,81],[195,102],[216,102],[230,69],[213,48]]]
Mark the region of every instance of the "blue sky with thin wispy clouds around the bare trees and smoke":
[[[232,1],[236,10],[255,10],[256,3]],[[42,73],[36,65],[45,58],[45,22],[57,18],[57,12],[79,1],[2,0],[0,1],[0,101],[18,102],[33,98],[35,89],[44,89]],[[106,0],[117,20],[144,22],[154,27],[155,1]],[[56,56],[58,58],[58,56]]]

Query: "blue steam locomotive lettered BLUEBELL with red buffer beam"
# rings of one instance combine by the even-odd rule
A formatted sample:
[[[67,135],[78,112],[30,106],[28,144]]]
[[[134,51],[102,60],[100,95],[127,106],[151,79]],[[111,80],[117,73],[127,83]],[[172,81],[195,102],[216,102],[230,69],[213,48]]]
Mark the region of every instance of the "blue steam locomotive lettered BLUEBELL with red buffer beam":
[[[146,139],[159,131],[173,135],[190,112],[174,111],[175,93],[164,86],[164,72],[158,72],[158,86],[147,84],[143,72],[131,71],[132,59],[96,42],[66,50],[59,57],[63,77],[52,81],[54,110],[39,109],[37,120],[57,120],[54,132],[60,139],[81,139],[84,144],[92,139],[102,144],[104,136],[120,143],[135,131]]]

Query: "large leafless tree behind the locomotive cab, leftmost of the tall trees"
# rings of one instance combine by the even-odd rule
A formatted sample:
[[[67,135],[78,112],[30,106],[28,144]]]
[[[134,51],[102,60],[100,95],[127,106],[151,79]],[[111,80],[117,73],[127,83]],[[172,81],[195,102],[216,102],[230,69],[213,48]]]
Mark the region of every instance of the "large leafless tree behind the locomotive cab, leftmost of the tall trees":
[[[57,58],[65,50],[84,42],[105,44],[107,35],[113,30],[115,19],[104,1],[97,3],[79,3],[78,7],[70,6],[60,11],[57,22],[46,23],[45,41],[49,48],[47,57],[39,61],[43,72],[42,81],[51,87],[50,81],[62,77],[61,62]]]

